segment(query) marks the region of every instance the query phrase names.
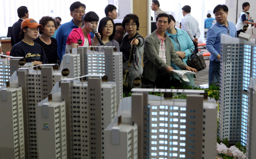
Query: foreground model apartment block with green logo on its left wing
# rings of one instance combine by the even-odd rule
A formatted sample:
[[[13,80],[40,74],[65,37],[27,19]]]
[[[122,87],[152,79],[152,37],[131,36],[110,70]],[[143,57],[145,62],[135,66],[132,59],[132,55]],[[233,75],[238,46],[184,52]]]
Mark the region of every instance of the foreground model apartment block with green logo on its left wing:
[[[43,125],[45,124],[48,124],[48,128],[52,127],[53,132],[51,136],[48,136],[48,139],[44,139],[44,137],[38,138],[37,143],[39,144],[39,148],[48,145],[53,149],[57,143],[60,145],[66,144],[67,156],[65,158],[67,159],[104,158],[105,148],[108,145],[105,145],[105,134],[103,130],[115,118],[116,84],[115,82],[102,81],[101,76],[103,75],[65,78],[60,83],[56,83],[56,86],[54,86],[51,92],[51,102],[60,107],[65,105],[66,124],[63,123],[65,126],[62,128],[58,126],[58,129],[62,129],[58,130],[58,132],[66,132],[66,141],[61,143],[62,139],[56,138],[56,133],[54,133],[56,131],[54,130],[56,120],[59,121],[58,124],[65,120],[60,119],[62,116],[60,113],[63,113],[64,110],[60,111],[60,107],[56,109],[52,108],[52,112],[57,111],[56,114],[52,113],[52,117],[49,115],[49,118],[43,118],[44,114],[42,112],[47,112],[50,103],[48,102],[49,98],[46,98],[36,107],[36,112],[38,113],[36,116],[40,118],[40,124],[37,125],[40,128],[37,129],[37,134],[48,133],[43,130]],[[85,77],[88,77],[86,79],[87,82],[85,81]],[[55,116],[58,116],[59,119],[56,119]],[[49,123],[52,123],[52,126]],[[49,145],[46,140],[52,140],[52,144]],[[43,153],[44,157],[47,155],[49,155],[47,158],[56,157],[50,156],[50,154],[46,155],[48,149],[43,149],[43,151],[40,154]]]

